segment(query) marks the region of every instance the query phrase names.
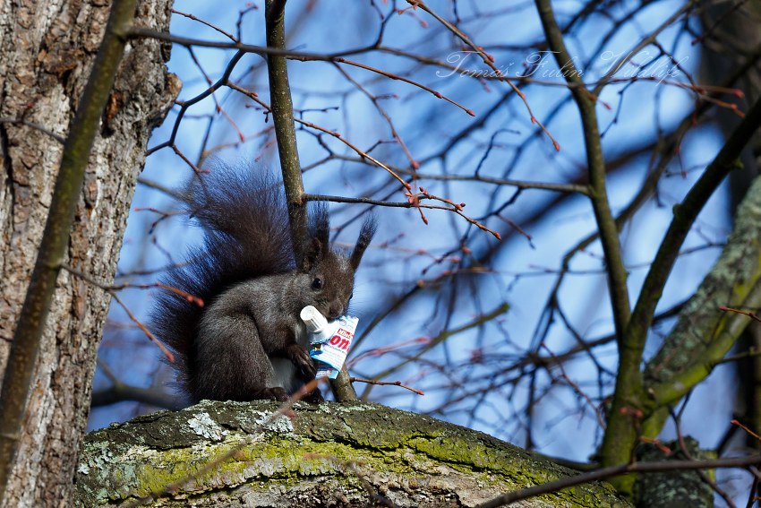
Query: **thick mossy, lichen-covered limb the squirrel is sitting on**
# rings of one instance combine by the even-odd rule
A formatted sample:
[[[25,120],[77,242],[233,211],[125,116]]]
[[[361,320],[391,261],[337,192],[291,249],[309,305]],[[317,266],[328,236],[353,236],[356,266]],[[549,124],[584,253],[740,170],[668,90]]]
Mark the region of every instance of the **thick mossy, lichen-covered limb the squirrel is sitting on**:
[[[271,418],[276,409],[206,400],[91,433],[76,505],[456,508],[574,474],[489,435],[398,409],[301,403],[295,418]],[[629,506],[602,482],[514,505]]]

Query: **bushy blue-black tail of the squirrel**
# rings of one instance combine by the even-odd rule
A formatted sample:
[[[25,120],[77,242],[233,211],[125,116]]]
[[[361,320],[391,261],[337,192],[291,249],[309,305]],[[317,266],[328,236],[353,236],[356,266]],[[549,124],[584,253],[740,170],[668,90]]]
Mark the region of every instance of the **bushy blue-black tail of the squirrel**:
[[[295,269],[285,195],[269,172],[217,166],[195,176],[183,193],[184,209],[204,231],[184,264],[160,279],[208,306],[242,280]],[[162,290],[150,316],[151,329],[175,354],[178,385],[196,388],[193,340],[203,308]]]

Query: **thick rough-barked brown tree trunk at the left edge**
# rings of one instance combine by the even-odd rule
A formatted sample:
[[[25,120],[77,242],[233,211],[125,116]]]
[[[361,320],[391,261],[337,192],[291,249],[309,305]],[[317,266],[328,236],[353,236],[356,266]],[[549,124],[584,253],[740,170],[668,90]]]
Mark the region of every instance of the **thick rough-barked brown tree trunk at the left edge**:
[[[136,23],[167,30],[168,0],[141,2]],[[0,4],[0,375],[37,256],[64,137],[109,12],[105,0]],[[90,155],[65,263],[108,283],[150,131],[179,85],[169,47],[133,41]],[[47,319],[6,506],[65,505],[90,405],[109,298],[62,271]]]

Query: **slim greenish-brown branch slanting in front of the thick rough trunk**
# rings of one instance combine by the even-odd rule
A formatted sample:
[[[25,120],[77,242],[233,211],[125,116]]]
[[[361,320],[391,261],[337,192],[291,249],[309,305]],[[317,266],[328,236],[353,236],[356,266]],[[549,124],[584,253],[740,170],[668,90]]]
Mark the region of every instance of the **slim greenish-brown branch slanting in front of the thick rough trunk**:
[[[90,71],[90,79],[69,129],[47,222],[38,248],[24,304],[13,336],[0,392],[0,500],[13,469],[19,437],[23,432],[31,383],[46,329],[47,314],[56,291],[56,280],[69,246],[76,204],[80,199],[85,168],[106,107],[115,74],[124,54],[126,36],[133,22],[136,0],[114,2],[106,33]]]

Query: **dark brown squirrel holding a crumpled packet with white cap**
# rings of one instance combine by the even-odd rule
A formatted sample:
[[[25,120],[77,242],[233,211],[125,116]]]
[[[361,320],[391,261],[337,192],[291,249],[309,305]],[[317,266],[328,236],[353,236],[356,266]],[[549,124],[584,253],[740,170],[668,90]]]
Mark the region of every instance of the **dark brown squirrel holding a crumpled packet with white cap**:
[[[192,179],[183,201],[204,241],[161,282],[205,305],[162,291],[151,315],[175,353],[178,383],[192,401],[287,400],[316,371],[299,314],[304,306],[329,319],[346,314],[375,221],[364,220],[346,256],[329,247],[327,208],[313,206],[308,233],[295,240],[297,266],[282,185],[266,172],[214,168]]]

